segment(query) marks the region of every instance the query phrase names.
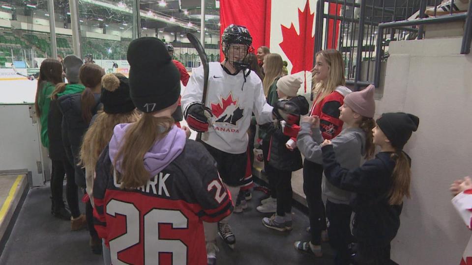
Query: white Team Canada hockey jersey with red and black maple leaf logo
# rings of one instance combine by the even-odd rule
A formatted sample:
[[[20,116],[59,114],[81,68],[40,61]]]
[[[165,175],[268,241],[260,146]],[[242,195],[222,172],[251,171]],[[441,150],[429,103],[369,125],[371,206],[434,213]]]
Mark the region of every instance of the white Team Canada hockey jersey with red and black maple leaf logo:
[[[246,71],[247,74],[247,71]],[[203,67],[197,68],[188,81],[181,99],[185,111],[193,102],[201,102],[204,82]],[[272,121],[272,106],[264,97],[261,79],[251,72],[244,82],[243,73],[236,76],[225,72],[219,62],[209,63],[206,106],[213,113],[213,125],[208,126],[208,145],[226,153],[246,152],[247,129],[252,112],[258,124]]]

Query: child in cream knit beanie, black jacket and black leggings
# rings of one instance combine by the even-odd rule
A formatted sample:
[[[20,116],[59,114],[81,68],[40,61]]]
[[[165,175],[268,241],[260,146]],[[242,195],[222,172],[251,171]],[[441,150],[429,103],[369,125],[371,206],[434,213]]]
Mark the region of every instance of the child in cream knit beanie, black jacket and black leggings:
[[[279,99],[288,99],[298,106],[301,115],[308,113],[308,102],[303,96],[296,96],[301,80],[294,76],[285,76],[277,82]],[[280,83],[280,85],[279,85]],[[298,149],[287,146],[291,137],[284,134],[285,122],[268,123],[261,126],[271,136],[268,162],[272,167],[273,180],[277,193],[277,212],[270,218],[263,218],[263,224],[278,231],[292,230],[292,172],[303,167]],[[293,140],[292,140],[293,142]]]

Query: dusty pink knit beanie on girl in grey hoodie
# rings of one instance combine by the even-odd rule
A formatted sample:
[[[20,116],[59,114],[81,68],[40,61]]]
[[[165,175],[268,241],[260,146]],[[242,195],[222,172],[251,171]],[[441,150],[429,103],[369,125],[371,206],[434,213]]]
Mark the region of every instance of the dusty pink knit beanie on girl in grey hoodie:
[[[344,104],[355,113],[366,118],[373,118],[375,114],[374,90],[375,87],[369,85],[361,91],[352,92],[344,98]]]

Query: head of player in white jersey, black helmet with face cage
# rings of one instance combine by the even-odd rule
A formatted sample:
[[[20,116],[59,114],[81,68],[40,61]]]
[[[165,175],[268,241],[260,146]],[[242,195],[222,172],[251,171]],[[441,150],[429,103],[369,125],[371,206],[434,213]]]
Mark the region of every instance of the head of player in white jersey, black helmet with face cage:
[[[223,31],[221,43],[223,45],[223,54],[225,54],[227,61],[231,63],[238,72],[249,68],[246,57],[248,53],[254,52],[254,48],[251,46],[251,34],[246,27],[231,24]],[[242,48],[241,45],[243,45],[244,48]],[[234,47],[233,49],[231,49],[232,46]]]

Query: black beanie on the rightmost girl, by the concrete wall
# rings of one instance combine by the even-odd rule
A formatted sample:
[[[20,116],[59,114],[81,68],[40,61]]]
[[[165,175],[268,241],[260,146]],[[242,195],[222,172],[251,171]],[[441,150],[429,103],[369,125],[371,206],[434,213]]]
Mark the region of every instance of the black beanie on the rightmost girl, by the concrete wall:
[[[418,129],[419,118],[404,112],[383,113],[376,122],[392,146],[402,150],[412,132]]]

